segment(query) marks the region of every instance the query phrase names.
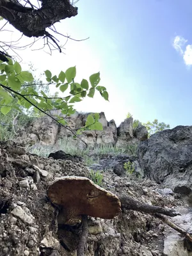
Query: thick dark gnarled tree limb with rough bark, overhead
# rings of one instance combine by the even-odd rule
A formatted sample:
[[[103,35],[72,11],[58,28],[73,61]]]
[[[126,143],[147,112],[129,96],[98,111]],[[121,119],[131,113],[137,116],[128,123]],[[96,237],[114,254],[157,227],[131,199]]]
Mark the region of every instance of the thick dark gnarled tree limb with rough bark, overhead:
[[[0,16],[8,20],[26,36],[47,35],[46,28],[54,23],[77,15],[77,8],[69,0],[43,0],[38,10],[22,6],[20,12],[13,10],[0,0]]]

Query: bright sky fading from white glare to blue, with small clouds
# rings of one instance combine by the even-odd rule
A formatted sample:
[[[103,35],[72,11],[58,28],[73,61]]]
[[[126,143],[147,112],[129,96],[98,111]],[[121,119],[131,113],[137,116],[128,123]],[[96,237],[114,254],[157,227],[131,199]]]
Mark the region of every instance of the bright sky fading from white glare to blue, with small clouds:
[[[65,55],[29,52],[38,71],[76,65],[79,76],[100,71],[109,102],[100,97],[79,111],[104,111],[117,124],[131,112],[141,122],[192,124],[192,3],[189,0],[80,0],[79,14],[56,26],[73,38]],[[60,38],[60,41],[63,38]],[[28,49],[29,51],[29,49]],[[24,61],[26,52],[20,53]]]

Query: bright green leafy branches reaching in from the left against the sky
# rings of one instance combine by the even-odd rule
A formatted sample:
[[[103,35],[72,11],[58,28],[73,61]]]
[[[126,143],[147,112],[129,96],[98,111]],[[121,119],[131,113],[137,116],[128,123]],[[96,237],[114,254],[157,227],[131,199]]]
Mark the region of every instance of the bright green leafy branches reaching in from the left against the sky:
[[[106,88],[99,86],[99,72],[90,76],[89,81],[83,79],[81,83],[76,83],[75,77],[76,67],[70,67],[65,72],[61,71],[58,76],[52,75],[50,70],[45,70],[44,79],[47,83],[43,84],[41,81],[35,81],[31,72],[23,71],[17,61],[14,62],[10,58],[8,58],[8,62],[0,61],[0,139],[14,138],[14,134],[16,135],[17,132],[13,120],[16,122],[17,119],[18,124],[19,117],[22,120],[31,118],[31,116],[47,115],[54,122],[65,127],[67,125],[65,118],[61,118],[60,115],[52,115],[52,109],[60,110],[64,116],[70,116],[76,111],[74,108],[76,102],[80,102],[85,97],[93,98],[96,91],[105,100],[108,100]],[[58,88],[60,93],[49,95],[50,85]],[[19,127],[20,124],[17,126]],[[89,115],[86,124],[79,132],[86,129],[102,130],[98,113]],[[72,133],[74,136],[77,135],[73,131]]]

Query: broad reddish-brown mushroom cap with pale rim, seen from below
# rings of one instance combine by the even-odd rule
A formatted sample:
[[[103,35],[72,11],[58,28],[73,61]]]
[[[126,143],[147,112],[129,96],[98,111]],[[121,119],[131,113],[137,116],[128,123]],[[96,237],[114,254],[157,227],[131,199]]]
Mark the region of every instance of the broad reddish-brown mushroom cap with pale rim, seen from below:
[[[116,195],[86,177],[65,176],[54,180],[47,191],[53,204],[62,205],[73,217],[89,215],[113,219],[120,211]]]

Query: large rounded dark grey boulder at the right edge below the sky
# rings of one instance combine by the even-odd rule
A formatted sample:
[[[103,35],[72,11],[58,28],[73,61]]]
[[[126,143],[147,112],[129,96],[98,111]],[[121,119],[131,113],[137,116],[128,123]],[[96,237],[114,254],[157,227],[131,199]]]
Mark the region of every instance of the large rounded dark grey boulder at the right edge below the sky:
[[[192,191],[192,126],[177,126],[140,143],[138,161],[150,179],[175,193]]]

